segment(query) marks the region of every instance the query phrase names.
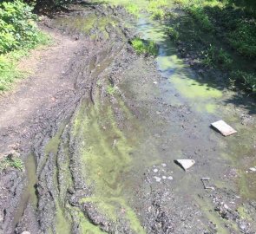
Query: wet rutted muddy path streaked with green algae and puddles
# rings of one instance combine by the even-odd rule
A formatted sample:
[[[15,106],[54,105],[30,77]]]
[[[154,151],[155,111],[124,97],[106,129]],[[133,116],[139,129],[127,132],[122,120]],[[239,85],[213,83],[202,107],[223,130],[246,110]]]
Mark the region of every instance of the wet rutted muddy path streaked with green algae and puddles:
[[[10,122],[10,107],[16,115],[23,105],[3,104],[1,151],[15,148],[26,170],[1,173],[1,231],[255,233],[255,116],[181,59],[165,22],[106,4],[70,7],[43,21],[68,45],[38,65],[35,79],[49,80],[26,95],[43,101],[18,89],[14,100],[29,109]],[[135,54],[138,34],[158,44],[156,58]],[[58,51],[65,62],[55,63]],[[238,133],[213,131],[220,119]],[[184,172],[174,159],[195,165]]]

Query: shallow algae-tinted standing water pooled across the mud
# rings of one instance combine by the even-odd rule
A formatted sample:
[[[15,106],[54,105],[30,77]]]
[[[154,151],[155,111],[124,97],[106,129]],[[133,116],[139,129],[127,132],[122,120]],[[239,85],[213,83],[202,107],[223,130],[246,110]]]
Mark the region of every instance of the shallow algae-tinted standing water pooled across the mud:
[[[95,20],[95,17],[94,19]],[[95,23],[89,23],[90,28],[83,28],[81,17],[69,23],[82,31],[89,31]],[[152,40],[159,46],[159,55],[156,57],[161,81],[156,86],[148,85],[148,96],[143,96],[138,88],[130,82],[121,84],[121,92],[127,96],[135,94],[137,101],[151,105],[150,98],[157,97],[173,107],[187,107],[187,116],[166,114],[165,120],[155,115],[154,123],[147,118],[147,111],[164,112],[156,105],[141,110],[135,115],[128,105],[115,97],[116,102],[102,104],[98,97],[95,105],[84,101],[77,110],[72,124],[73,136],[79,142],[82,152],[82,175],[92,188],[89,197],[82,198],[81,203],[92,203],[98,211],[109,220],[118,221],[120,211],[125,210],[124,218],[131,224],[135,233],[143,233],[138,203],[135,200],[135,190],[144,184],[144,172],[152,166],[167,163],[167,174],[174,176],[170,184],[177,196],[186,195],[202,206],[206,218],[219,226],[218,233],[227,233],[224,221],[221,221],[216,212],[210,212],[207,201],[201,201],[196,196],[202,192],[201,177],[211,176],[213,183],[220,184],[219,174],[229,165],[240,169],[238,189],[244,198],[256,198],[256,188],[252,185],[251,174],[246,174],[246,165],[241,157],[253,156],[255,142],[255,127],[246,127],[240,124],[240,113],[233,105],[226,105],[225,101],[233,94],[214,88],[210,81],[202,81],[194,71],[177,55],[174,44],[165,35],[166,23],[156,22],[147,15],[138,19],[136,29],[145,40]],[[106,63],[107,65],[110,62]],[[95,77],[104,70],[95,71]],[[129,72],[127,74],[129,75]],[[116,109],[121,112],[122,125],[116,120]],[[187,118],[187,119],[186,119]],[[188,130],[181,130],[183,119],[186,125],[195,126]],[[239,133],[223,138],[209,126],[215,120],[226,120]],[[60,139],[60,135],[56,135]],[[239,143],[238,143],[239,142]],[[59,142],[55,138],[49,141],[45,151],[47,154],[57,153]],[[200,157],[195,152],[200,151]],[[181,168],[174,165],[174,159],[197,157],[196,165],[191,173],[186,174]],[[28,159],[28,164],[31,163]],[[28,189],[24,199],[34,201],[36,183],[35,166],[28,166]],[[168,174],[169,173],[169,174]],[[223,181],[221,181],[223,182]],[[224,182],[228,187],[228,182]],[[34,192],[34,193],[33,193]],[[32,194],[32,195],[31,195]],[[34,194],[34,195],[33,195]],[[31,195],[31,196],[30,196]],[[34,203],[34,202],[32,202]],[[207,208],[206,208],[207,207]],[[21,215],[21,214],[20,214]],[[143,214],[141,214],[143,216]],[[88,220],[82,218],[82,230],[100,233],[101,230]],[[69,230],[65,223],[65,216],[60,205],[57,205],[57,230]],[[69,231],[68,231],[69,232]],[[68,233],[67,232],[67,233]]]

